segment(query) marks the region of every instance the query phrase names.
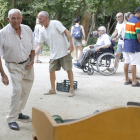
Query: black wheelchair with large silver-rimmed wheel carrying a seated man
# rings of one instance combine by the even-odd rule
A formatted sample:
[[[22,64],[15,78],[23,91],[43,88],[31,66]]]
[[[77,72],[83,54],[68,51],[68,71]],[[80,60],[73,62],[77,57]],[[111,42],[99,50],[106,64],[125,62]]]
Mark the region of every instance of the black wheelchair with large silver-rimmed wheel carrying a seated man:
[[[87,63],[82,66],[83,72],[88,75],[92,75],[94,71],[105,76],[114,74],[118,68],[118,59],[114,55],[113,46],[115,46],[115,43],[111,42],[109,48],[100,49],[100,51],[93,53],[86,61]],[[116,68],[114,68],[115,63]]]

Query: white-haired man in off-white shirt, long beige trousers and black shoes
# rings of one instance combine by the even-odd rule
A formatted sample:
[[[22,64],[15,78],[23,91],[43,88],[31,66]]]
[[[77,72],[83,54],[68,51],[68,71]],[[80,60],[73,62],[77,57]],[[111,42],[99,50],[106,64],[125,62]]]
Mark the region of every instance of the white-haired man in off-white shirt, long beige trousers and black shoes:
[[[7,122],[10,129],[19,130],[16,121],[29,120],[29,116],[23,115],[21,110],[26,105],[34,81],[35,45],[30,27],[21,24],[20,10],[11,9],[7,19],[9,24],[0,30],[0,72],[2,82],[8,85],[9,80],[2,67],[3,56],[13,85]]]

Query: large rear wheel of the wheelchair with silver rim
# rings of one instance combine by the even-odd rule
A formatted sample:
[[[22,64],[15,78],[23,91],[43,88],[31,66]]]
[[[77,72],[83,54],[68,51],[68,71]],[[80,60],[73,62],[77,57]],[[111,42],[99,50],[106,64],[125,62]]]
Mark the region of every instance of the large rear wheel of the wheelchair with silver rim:
[[[116,68],[114,68],[114,64],[116,62]],[[118,59],[112,53],[103,53],[99,56],[97,60],[97,69],[98,71],[105,75],[112,75],[116,72],[118,68]]]

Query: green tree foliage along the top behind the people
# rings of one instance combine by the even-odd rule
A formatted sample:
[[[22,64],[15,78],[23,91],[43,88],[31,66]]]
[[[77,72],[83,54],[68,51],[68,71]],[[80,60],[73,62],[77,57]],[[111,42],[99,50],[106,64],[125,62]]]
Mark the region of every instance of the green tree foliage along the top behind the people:
[[[95,28],[104,25],[109,31],[112,25],[115,27],[115,16],[118,12],[134,12],[139,4],[140,0],[0,0],[0,25],[3,27],[7,24],[7,13],[14,6],[22,11],[23,24],[32,29],[37,14],[47,11],[50,19],[60,20],[68,29],[73,19],[79,17],[87,32],[94,14]]]

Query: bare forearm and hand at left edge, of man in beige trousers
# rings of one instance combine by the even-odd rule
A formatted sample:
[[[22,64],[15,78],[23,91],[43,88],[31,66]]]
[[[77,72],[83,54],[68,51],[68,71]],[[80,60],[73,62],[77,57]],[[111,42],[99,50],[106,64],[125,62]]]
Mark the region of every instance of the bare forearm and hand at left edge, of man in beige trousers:
[[[1,57],[0,57],[0,73],[1,73],[1,76],[2,76],[3,84],[7,86],[9,84],[9,80],[8,80],[7,75],[5,74],[5,72],[3,70]]]

